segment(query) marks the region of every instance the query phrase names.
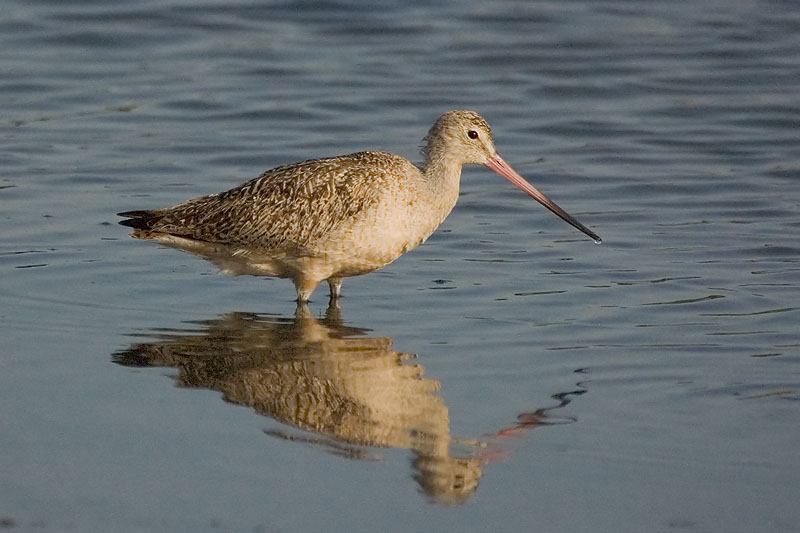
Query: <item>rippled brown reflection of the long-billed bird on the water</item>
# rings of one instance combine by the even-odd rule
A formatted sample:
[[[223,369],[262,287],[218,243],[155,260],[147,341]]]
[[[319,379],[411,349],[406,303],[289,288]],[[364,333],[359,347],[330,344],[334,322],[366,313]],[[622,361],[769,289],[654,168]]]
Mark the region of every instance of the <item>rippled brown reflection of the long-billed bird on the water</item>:
[[[502,458],[492,443],[540,425],[570,422],[548,411],[523,413],[512,427],[484,440],[450,434],[438,381],[423,377],[415,356],[395,351],[392,339],[346,326],[336,307],[316,320],[306,306],[293,319],[231,313],[192,323],[191,330],[156,334],[113,355],[133,367],[175,367],[181,387],[214,389],[226,401],[311,433],[268,435],[319,445],[349,458],[369,459],[375,448],[414,453],[413,477],[434,501],[458,505],[474,493],[484,465]],[[152,338],[153,335],[148,335]]]

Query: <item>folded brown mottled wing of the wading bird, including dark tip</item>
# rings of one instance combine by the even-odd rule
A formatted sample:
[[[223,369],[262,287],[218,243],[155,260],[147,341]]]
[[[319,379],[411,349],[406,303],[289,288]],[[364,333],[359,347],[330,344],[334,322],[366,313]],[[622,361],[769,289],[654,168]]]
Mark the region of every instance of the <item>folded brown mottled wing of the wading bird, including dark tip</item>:
[[[306,247],[376,205],[392,182],[414,171],[400,156],[359,152],[277,167],[220,194],[121,215],[133,217],[129,226],[201,241]]]

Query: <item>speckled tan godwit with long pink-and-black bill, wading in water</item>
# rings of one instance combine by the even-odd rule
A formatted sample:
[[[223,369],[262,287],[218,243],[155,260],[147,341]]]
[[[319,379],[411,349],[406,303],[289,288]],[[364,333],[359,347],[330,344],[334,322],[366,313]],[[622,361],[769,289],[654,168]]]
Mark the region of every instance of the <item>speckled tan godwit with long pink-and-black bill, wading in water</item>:
[[[290,278],[298,303],[322,281],[336,301],[342,278],[384,267],[424,242],[458,199],[461,167],[486,165],[600,242],[517,174],[474,111],[440,116],[417,167],[384,152],[311,159],[266,171],[229,191],[163,209],[127,211],[134,237],[198,254],[234,275]]]

